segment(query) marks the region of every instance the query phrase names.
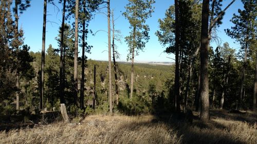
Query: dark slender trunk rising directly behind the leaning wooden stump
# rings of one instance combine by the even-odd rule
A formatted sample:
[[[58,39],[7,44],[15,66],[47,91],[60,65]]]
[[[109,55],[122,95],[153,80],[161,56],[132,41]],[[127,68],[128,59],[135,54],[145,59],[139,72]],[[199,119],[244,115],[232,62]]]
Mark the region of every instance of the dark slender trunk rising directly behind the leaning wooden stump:
[[[60,102],[64,104],[64,86],[63,86],[63,37],[64,37],[64,21],[65,21],[66,0],[63,0],[63,15],[62,15],[62,29],[61,29],[61,44],[60,44]]]

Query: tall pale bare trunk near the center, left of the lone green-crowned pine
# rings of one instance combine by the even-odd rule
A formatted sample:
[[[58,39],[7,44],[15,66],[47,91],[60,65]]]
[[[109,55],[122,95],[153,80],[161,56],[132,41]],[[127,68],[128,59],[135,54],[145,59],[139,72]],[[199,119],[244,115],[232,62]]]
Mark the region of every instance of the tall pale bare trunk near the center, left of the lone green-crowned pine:
[[[110,114],[113,114],[113,106],[112,106],[112,56],[111,56],[111,26],[110,26],[110,17],[111,17],[111,12],[110,12],[110,0],[107,1],[107,13],[108,13],[108,61],[109,61],[109,112]]]

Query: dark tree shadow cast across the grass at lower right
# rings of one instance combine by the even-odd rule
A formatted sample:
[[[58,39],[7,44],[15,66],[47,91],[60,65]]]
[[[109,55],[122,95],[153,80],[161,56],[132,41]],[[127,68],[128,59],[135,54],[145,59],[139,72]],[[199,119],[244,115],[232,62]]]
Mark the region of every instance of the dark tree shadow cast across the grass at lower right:
[[[188,123],[185,119],[185,113],[166,113],[156,116],[159,121],[168,124],[168,126],[177,131],[177,136],[182,136],[182,143],[246,143],[240,139],[233,138],[225,125],[210,120],[205,123],[200,121],[197,116],[193,117],[193,123]]]

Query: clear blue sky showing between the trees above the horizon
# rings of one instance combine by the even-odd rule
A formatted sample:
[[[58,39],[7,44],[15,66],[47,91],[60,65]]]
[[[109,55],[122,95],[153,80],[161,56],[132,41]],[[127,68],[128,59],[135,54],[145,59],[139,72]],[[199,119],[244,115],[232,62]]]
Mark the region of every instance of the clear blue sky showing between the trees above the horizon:
[[[223,7],[226,7],[232,0],[224,0]],[[59,7],[60,11],[52,5],[47,7],[47,19],[55,23],[47,23],[46,26],[46,49],[48,45],[52,44],[54,48],[58,48],[57,40],[55,37],[58,35],[58,29],[61,25],[62,17],[62,5],[58,4],[58,0],[54,1]],[[121,54],[119,61],[125,61],[128,53],[128,48],[124,42],[124,37],[128,35],[130,31],[128,20],[122,16],[122,12],[125,11],[124,6],[127,4],[127,0],[111,0],[111,8],[115,10],[115,17],[119,17],[116,20],[116,29],[121,31],[123,35],[122,44],[118,44],[118,51]],[[169,0],[156,0],[154,4],[155,12],[152,14],[146,24],[150,26],[150,40],[146,44],[144,52],[140,52],[139,56],[135,57],[136,62],[142,61],[173,61],[169,57],[174,57],[173,54],[162,53],[165,48],[159,44],[157,36],[154,34],[158,29],[158,19],[164,18],[165,11],[174,4],[174,1]],[[243,9],[243,4],[240,0],[236,0],[235,3],[226,11],[223,19],[223,24],[218,28],[217,35],[222,39],[221,43],[228,42],[230,47],[235,49],[240,48],[238,43],[234,43],[234,40],[226,35],[224,29],[230,28],[232,23],[229,21],[233,13],[237,13],[237,9]],[[104,10],[106,11],[106,10]],[[56,24],[58,23],[58,24]],[[42,49],[42,24],[43,24],[43,0],[32,0],[31,7],[27,9],[22,15],[20,15],[20,28],[24,30],[24,44],[30,46],[30,50],[37,52]],[[107,31],[107,17],[103,14],[98,14],[95,19],[91,20],[89,29],[96,32],[97,30]],[[86,54],[88,58],[96,60],[107,60],[107,33],[98,32],[96,36],[89,35],[88,44],[93,46],[91,54]],[[217,44],[211,43],[213,47]],[[81,51],[81,48],[79,48]]]

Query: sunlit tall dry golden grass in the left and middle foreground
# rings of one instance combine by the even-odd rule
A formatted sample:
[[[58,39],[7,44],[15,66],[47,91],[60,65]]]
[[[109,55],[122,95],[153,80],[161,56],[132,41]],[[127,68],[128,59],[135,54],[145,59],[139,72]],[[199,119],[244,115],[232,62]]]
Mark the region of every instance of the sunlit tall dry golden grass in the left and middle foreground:
[[[58,123],[0,133],[0,143],[180,143],[153,116],[88,116],[82,125]]]

